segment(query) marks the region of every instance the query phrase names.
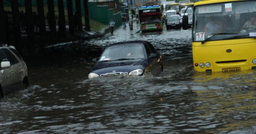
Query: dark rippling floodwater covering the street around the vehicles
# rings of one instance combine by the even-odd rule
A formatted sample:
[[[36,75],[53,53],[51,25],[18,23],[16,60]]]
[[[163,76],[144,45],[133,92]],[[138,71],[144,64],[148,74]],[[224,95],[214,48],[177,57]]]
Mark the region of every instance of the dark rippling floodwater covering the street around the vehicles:
[[[255,134],[256,71],[194,72],[191,29],[138,29],[25,57],[30,87],[0,99],[0,133]],[[87,78],[105,46],[131,40],[161,53],[159,77]]]

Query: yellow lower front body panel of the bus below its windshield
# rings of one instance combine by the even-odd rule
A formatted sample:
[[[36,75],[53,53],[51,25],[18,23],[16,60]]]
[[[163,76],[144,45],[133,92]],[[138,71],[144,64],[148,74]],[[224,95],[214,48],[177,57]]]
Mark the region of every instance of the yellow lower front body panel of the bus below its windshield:
[[[227,50],[232,50],[227,52]],[[205,72],[211,69],[212,72],[221,72],[229,68],[240,68],[240,70],[252,69],[253,59],[256,59],[256,39],[233,39],[208,41],[204,44],[201,42],[192,42],[194,69],[198,72]],[[195,63],[210,62],[209,68]]]

